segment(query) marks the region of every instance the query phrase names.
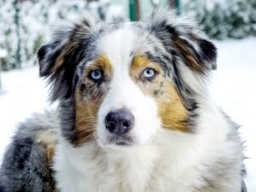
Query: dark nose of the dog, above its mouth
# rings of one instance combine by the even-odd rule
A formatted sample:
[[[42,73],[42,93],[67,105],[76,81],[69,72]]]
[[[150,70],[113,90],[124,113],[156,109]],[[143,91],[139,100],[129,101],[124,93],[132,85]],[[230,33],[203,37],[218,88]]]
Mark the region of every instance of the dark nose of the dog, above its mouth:
[[[105,124],[108,131],[115,135],[122,136],[133,127],[134,116],[131,114],[130,110],[122,108],[108,113]]]

